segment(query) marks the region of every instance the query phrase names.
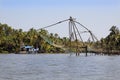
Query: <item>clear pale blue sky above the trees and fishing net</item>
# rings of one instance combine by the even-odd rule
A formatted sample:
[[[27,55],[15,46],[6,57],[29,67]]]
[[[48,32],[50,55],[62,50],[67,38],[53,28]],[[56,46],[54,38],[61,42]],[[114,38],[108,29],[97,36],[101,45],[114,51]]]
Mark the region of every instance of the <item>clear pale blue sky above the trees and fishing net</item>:
[[[120,29],[120,0],[0,0],[0,23],[23,31],[40,29],[70,16],[98,39],[104,38],[113,25]],[[68,22],[47,30],[68,36]]]

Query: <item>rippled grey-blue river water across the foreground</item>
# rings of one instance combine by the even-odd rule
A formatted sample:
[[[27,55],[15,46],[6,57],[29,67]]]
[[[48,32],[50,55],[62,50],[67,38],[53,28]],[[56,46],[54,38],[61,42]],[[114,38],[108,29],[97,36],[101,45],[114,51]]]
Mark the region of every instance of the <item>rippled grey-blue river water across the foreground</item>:
[[[0,54],[0,80],[119,80],[120,56]]]

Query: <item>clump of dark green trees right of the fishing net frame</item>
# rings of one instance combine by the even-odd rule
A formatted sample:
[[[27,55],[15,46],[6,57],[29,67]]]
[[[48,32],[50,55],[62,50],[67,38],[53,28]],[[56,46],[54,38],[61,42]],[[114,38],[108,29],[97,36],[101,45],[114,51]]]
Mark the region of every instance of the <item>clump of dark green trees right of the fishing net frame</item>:
[[[110,28],[107,37],[94,43],[94,47],[105,53],[120,53],[120,30],[116,26]]]

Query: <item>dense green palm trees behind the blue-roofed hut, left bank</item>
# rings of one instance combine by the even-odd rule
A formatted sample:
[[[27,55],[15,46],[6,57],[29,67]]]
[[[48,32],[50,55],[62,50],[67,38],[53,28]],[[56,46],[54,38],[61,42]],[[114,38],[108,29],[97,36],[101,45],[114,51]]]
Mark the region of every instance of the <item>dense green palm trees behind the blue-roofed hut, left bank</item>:
[[[0,23],[0,53],[17,53],[23,45],[34,46],[39,48],[39,52],[43,53],[63,52],[62,49],[51,45],[53,41],[63,44],[63,39],[58,37],[58,34],[49,34],[47,30],[41,29],[37,31],[31,28],[29,31],[23,32],[22,29],[12,29],[7,24]]]

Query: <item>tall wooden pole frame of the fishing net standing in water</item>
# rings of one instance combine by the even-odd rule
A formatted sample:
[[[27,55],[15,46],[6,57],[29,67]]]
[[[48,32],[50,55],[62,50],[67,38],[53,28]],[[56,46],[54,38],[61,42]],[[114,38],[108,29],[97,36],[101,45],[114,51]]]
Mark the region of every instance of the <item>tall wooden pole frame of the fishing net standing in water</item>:
[[[79,29],[78,27],[76,26],[77,24],[79,24],[81,27],[83,27],[86,31],[83,31],[82,33],[89,33],[92,40],[95,41],[97,40],[97,38],[95,37],[95,35],[87,28],[85,27],[84,25],[82,25],[81,23],[77,22],[76,20],[74,20],[74,18],[72,18],[70,16],[69,19],[66,19],[66,20],[63,20],[63,21],[59,21],[57,23],[54,23],[54,24],[51,24],[49,26],[46,26],[46,27],[43,27],[43,28],[40,28],[38,29],[37,31],[41,30],[41,29],[46,29],[46,28],[49,28],[49,27],[53,27],[55,25],[58,25],[58,24],[61,24],[63,22],[66,22],[68,21],[69,23],[69,51],[70,51],[70,55],[72,55],[72,50],[76,49],[76,56],[79,56],[79,48],[84,48],[85,49],[85,53],[86,53],[86,56],[87,56],[87,52],[88,52],[88,46],[84,43],[84,40],[82,38],[82,35],[81,33],[79,32]],[[80,39],[80,41],[82,42],[82,46],[83,47],[80,47],[79,46],[79,42],[78,40]],[[74,41],[75,43],[75,47],[72,45],[72,42]],[[98,41],[98,40],[97,40]],[[72,49],[74,48],[74,49]]]

